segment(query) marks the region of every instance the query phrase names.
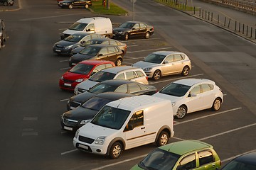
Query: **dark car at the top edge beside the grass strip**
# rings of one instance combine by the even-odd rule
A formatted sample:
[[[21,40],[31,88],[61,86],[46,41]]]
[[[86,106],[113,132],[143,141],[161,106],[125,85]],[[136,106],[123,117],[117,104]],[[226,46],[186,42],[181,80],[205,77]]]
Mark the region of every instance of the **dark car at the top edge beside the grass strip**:
[[[59,1],[58,6],[61,8],[75,8],[75,7],[82,7],[82,8],[89,8],[92,6],[91,0],[64,0]]]

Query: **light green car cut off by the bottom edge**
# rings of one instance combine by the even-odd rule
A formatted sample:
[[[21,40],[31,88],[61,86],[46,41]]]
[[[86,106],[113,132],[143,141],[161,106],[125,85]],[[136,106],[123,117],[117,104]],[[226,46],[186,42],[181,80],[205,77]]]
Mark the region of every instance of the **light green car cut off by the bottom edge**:
[[[220,164],[220,157],[212,145],[197,140],[184,140],[154,149],[131,170],[216,170],[220,169]]]

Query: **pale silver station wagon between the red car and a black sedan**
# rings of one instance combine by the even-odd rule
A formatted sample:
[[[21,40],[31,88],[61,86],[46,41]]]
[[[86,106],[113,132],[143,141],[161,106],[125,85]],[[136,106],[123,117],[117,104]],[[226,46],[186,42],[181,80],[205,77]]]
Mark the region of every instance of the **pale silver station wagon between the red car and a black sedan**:
[[[118,66],[102,69],[100,72],[97,72],[90,77],[90,79],[82,81],[80,84],[75,86],[74,93],[76,95],[81,94],[88,91],[92,86],[110,79],[127,79],[141,84],[149,84],[148,77],[141,68],[132,66]]]

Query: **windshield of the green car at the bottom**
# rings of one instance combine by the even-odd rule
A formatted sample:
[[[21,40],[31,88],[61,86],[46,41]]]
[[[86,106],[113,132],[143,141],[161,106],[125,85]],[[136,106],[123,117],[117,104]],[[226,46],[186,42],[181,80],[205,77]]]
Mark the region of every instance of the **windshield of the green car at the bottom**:
[[[174,168],[179,157],[181,156],[178,154],[156,148],[142,159],[138,165],[142,169],[171,170]]]

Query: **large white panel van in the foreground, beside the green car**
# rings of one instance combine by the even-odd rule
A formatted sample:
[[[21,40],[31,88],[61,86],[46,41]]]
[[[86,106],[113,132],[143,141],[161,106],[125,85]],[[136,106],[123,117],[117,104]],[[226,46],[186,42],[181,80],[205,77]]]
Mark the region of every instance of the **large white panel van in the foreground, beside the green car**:
[[[171,101],[132,96],[107,103],[75,132],[73,145],[86,152],[117,159],[123,150],[152,142],[166,145],[174,136]]]

